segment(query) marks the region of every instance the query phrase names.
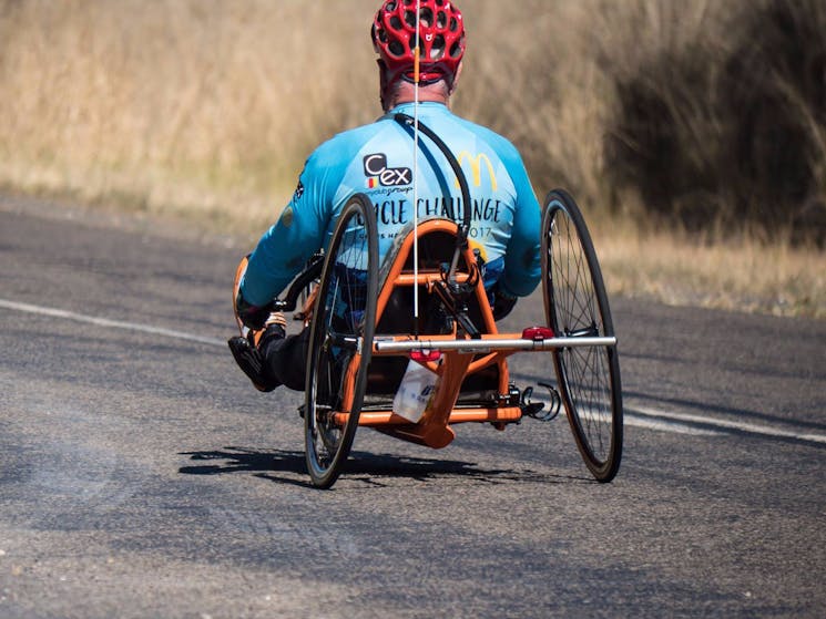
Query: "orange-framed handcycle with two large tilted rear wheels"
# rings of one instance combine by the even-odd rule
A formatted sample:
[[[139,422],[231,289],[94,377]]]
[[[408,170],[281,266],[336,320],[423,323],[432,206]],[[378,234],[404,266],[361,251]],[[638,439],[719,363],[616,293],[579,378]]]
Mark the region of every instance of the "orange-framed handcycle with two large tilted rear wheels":
[[[455,159],[451,165],[462,204],[470,204],[463,174]],[[616,475],[623,440],[616,337],[579,207],[561,189],[544,202],[545,323],[521,332],[497,329],[480,277],[483,265],[467,241],[469,227],[469,214],[461,223],[422,220],[397,237],[379,267],[374,206],[355,194],[325,254],[274,302],[275,309],[294,311],[299,296],[305,298],[296,314],[309,329],[299,411],[315,486],[336,482],[359,426],[441,448],[458,424],[501,431],[524,417],[550,421],[561,409],[593,477],[610,482]],[[425,309],[424,318],[410,311],[414,305]],[[510,380],[508,358],[523,352],[553,358],[555,386],[540,381],[548,390],[544,401],[536,401],[533,386],[520,390]],[[415,415],[399,412],[399,393],[411,374],[430,379],[411,381]]]

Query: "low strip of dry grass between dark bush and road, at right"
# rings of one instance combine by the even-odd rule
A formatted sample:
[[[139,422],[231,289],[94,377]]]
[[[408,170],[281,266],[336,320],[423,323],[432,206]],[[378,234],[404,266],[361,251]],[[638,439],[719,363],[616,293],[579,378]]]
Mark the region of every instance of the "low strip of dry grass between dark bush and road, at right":
[[[826,256],[755,235],[696,235],[596,223],[600,264],[612,295],[674,306],[826,319]]]

